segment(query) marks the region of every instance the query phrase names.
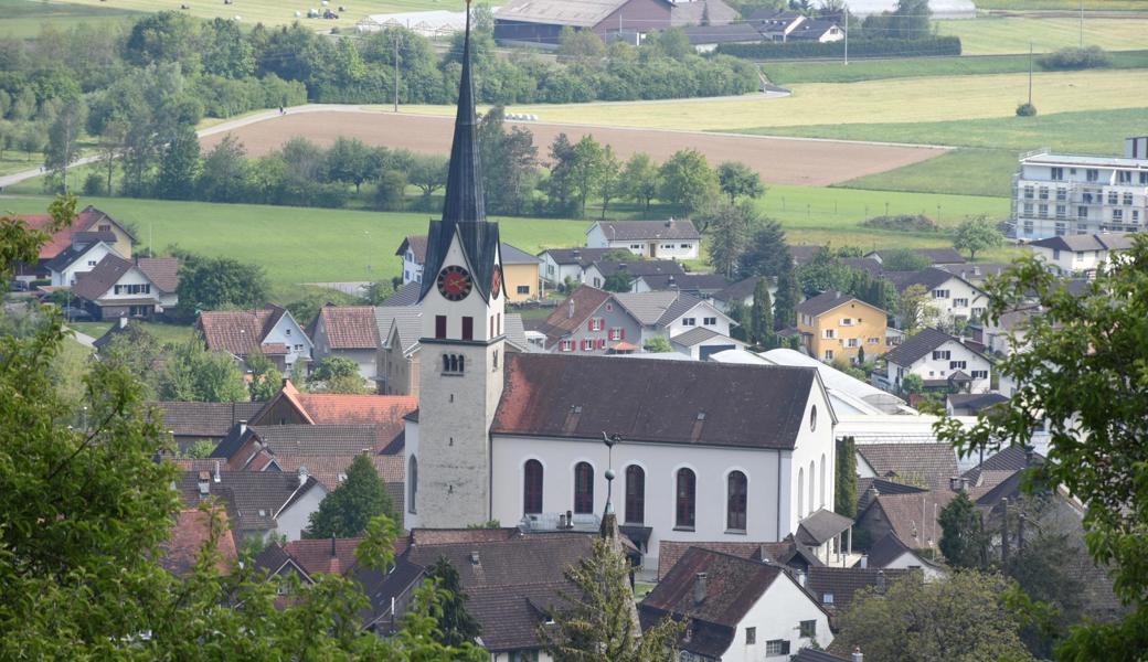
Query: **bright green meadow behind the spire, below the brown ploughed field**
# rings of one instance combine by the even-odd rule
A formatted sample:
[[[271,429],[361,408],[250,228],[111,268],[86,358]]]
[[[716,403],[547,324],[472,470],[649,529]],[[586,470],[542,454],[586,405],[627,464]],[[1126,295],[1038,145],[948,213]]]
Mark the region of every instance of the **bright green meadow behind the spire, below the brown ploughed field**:
[[[42,213],[44,196],[0,197],[0,210]],[[180,248],[262,265],[276,283],[366,281],[400,275],[395,250],[426,234],[427,213],[381,213],[251,204],[82,197],[134,226],[139,248]],[[497,219],[528,252],[583,246],[589,220]]]

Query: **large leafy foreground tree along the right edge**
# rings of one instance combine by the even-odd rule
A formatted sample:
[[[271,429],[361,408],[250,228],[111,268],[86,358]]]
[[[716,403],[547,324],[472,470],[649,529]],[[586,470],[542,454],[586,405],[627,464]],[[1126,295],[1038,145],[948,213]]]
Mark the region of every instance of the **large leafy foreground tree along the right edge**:
[[[1027,445],[1048,427],[1048,460],[1030,489],[1063,486],[1084,504],[1093,560],[1109,568],[1127,615],[1115,624],[1073,629],[1057,648],[1063,660],[1135,660],[1148,649],[1148,513],[1142,443],[1148,411],[1148,243],[1138,237],[1123,259],[1073,296],[1039,260],[1024,258],[986,285],[986,317],[1033,310],[1024,348],[996,369],[1016,381],[1008,404],[982,414],[971,429],[945,420],[943,439],[961,452]],[[1085,443],[1085,441],[1087,443]]]

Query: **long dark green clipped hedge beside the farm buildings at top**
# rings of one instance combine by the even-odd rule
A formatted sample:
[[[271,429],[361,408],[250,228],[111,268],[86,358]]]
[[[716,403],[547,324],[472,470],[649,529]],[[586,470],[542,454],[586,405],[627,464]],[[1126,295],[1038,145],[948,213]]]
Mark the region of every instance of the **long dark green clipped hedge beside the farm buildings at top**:
[[[722,44],[718,53],[750,60],[800,60],[804,57],[844,57],[845,41],[769,41],[765,44]],[[851,57],[922,57],[961,54],[960,37],[926,39],[854,39]]]

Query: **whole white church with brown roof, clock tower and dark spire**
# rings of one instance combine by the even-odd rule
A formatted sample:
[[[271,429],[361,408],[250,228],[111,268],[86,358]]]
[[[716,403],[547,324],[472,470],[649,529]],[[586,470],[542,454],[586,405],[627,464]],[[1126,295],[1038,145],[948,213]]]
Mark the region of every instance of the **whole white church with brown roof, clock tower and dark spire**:
[[[507,355],[475,130],[467,32],[419,293],[405,528],[590,527],[612,497],[657,567],[662,540],[776,542],[832,511],[837,421],[816,368]]]

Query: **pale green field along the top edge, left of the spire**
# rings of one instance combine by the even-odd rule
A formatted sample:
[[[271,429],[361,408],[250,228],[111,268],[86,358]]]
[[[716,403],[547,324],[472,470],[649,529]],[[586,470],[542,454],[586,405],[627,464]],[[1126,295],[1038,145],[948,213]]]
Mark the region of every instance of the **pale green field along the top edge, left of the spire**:
[[[317,1],[287,1],[284,0],[236,0],[234,5],[224,5],[223,0],[214,0],[211,2],[204,0],[192,0],[191,2],[183,2],[180,0],[114,0],[116,10],[124,11],[160,11],[163,9],[179,9],[180,5],[188,5],[191,9],[188,14],[192,16],[199,16],[201,18],[232,18],[234,16],[240,16],[241,22],[248,25],[254,25],[256,23],[263,23],[264,25],[282,25],[290,24],[296,21],[295,11],[300,11],[303,16],[307,16],[307,10],[315,7],[319,8],[320,5]],[[46,10],[56,10],[56,7],[61,7],[63,11],[80,11],[87,10],[90,13],[94,11],[107,11],[108,2],[102,0],[71,0],[71,2],[46,2],[45,0],[5,0],[5,2],[16,2],[23,5],[31,5],[34,7],[44,7]],[[320,18],[298,18],[308,28],[315,28],[316,30],[324,30],[331,28],[346,28],[354,25],[358,21],[363,20],[369,14],[389,14],[395,11],[422,11],[430,9],[450,9],[460,10],[464,7],[463,0],[341,0],[331,2],[332,8],[336,8],[340,5],[346,6],[347,10],[339,13],[338,20],[320,20]],[[73,7],[78,9],[73,9]],[[102,14],[92,14],[93,16],[101,16]],[[0,25],[3,22],[0,21]],[[0,28],[0,33],[2,33],[2,28]],[[34,32],[33,32],[34,34]]]

